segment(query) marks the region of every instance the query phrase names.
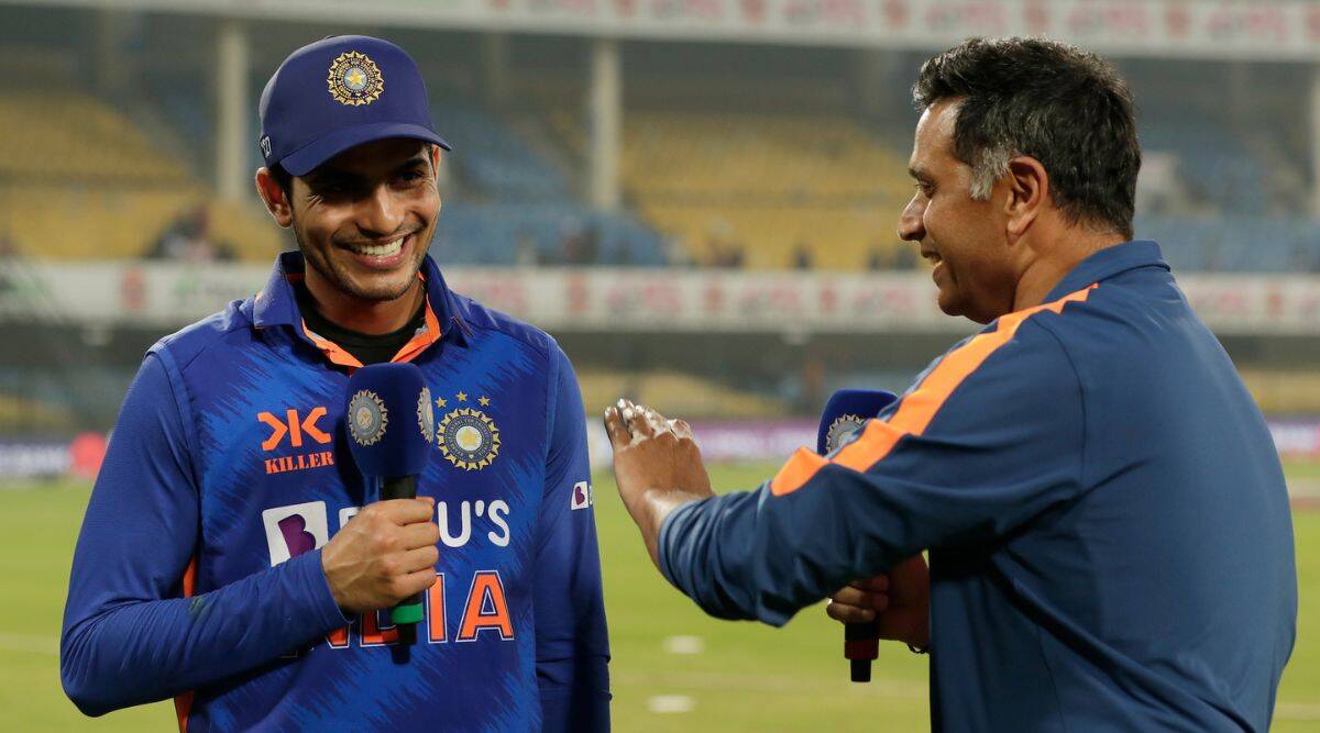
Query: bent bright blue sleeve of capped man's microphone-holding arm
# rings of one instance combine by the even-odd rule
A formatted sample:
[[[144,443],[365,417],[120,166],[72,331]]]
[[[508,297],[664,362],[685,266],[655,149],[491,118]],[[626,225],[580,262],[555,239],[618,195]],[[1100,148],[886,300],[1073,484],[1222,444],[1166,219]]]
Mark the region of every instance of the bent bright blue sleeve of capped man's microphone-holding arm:
[[[124,398],[69,580],[59,671],[87,715],[243,672],[343,626],[319,550],[191,597],[199,498],[168,353]]]

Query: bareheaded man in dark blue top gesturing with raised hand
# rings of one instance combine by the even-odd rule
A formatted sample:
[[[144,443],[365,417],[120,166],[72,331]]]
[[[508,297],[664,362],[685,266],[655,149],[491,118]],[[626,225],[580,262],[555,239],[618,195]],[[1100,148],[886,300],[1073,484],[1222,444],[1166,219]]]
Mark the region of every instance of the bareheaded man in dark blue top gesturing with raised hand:
[[[652,559],[718,617],[834,593],[832,617],[928,647],[940,730],[1266,730],[1296,634],[1288,497],[1233,364],[1130,241],[1127,87],[1069,46],[970,40],[915,96],[899,235],[985,330],[754,492],[713,496],[681,421],[611,407]]]

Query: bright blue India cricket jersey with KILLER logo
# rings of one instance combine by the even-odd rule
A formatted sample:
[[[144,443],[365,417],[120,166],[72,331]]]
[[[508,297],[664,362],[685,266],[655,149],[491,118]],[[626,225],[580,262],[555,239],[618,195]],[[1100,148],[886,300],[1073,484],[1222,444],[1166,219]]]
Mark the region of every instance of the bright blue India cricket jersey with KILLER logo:
[[[87,713],[177,697],[190,730],[603,730],[609,645],[583,410],[545,334],[450,293],[428,257],[421,368],[437,583],[412,658],[346,618],[319,548],[375,500],[346,446],[356,360],[265,289],[156,344],[74,558],[61,671]],[[417,421],[420,414],[389,415]]]

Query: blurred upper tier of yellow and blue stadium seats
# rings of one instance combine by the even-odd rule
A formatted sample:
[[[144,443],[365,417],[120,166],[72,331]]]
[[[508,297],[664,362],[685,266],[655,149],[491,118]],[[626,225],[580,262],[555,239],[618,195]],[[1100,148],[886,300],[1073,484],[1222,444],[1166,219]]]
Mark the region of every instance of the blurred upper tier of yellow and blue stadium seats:
[[[20,252],[139,257],[198,207],[209,212],[210,237],[240,258],[268,261],[286,243],[255,202],[216,203],[169,145],[73,88],[0,95],[0,236]],[[206,148],[211,128],[198,91],[158,83],[153,94],[176,142]],[[578,199],[569,170],[585,156],[578,116],[495,113],[458,92],[442,96],[434,116],[455,148],[434,243],[446,262],[663,265],[673,239],[698,264],[911,266],[894,236],[911,192],[907,142],[846,113],[627,111],[622,178],[643,223]],[[1177,186],[1192,199],[1143,212],[1137,224],[1179,270],[1320,270],[1320,227],[1269,215],[1267,169],[1250,141],[1176,109],[1144,115],[1142,140],[1148,154],[1172,156]],[[255,146],[252,154],[256,165]],[[734,262],[731,250],[741,252]]]

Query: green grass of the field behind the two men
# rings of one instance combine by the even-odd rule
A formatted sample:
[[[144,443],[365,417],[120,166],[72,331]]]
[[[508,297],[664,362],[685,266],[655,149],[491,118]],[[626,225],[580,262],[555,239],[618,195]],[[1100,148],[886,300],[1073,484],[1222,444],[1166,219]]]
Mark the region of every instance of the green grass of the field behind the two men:
[[[721,489],[750,488],[771,465],[717,467]],[[1290,476],[1313,477],[1305,465]],[[888,645],[870,684],[847,682],[838,626],[822,606],[784,629],[702,616],[651,567],[609,473],[597,476],[597,517],[614,660],[614,728],[669,730],[928,729],[927,660]],[[59,688],[58,634],[86,484],[0,490],[0,730],[170,730],[169,703],[83,717]],[[1320,512],[1295,514],[1300,633],[1283,676],[1275,730],[1320,730]],[[671,637],[697,637],[688,654]],[[692,647],[700,651],[690,653]],[[659,697],[659,699],[657,699]],[[653,712],[656,707],[686,712]]]

